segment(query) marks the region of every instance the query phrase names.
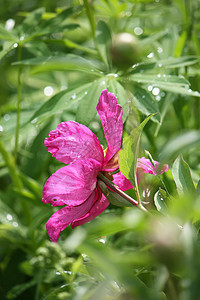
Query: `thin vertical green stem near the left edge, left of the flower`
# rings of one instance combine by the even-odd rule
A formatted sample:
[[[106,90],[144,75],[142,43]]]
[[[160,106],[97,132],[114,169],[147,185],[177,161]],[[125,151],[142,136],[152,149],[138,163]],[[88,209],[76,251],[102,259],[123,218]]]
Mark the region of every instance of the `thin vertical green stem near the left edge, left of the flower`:
[[[22,57],[22,47],[18,45],[18,57],[17,61],[19,62]],[[15,149],[14,149],[14,158],[17,161],[17,153],[19,146],[19,129],[20,129],[20,115],[21,115],[21,66],[18,66],[18,75],[17,75],[17,121],[16,121],[16,131],[15,131]]]

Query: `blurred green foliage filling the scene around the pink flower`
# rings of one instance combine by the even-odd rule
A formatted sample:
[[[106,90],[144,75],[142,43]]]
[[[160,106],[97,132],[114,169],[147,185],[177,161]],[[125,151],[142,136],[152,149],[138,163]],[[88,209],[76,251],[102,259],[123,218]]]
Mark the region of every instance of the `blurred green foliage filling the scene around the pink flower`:
[[[2,300],[200,298],[199,11],[199,0],[1,3]],[[140,49],[126,68],[110,57],[122,32]],[[53,244],[45,223],[55,208],[41,199],[61,164],[44,138],[76,120],[106,148],[96,118],[103,89],[123,107],[119,165],[135,187],[127,199],[149,213],[101,182],[110,206]],[[170,170],[138,186],[145,150]]]

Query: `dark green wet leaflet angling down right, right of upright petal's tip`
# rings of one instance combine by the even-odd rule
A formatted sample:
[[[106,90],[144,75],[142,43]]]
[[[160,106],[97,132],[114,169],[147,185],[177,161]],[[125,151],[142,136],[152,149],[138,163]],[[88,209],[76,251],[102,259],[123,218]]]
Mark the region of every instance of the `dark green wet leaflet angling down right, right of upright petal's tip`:
[[[152,95],[141,86],[136,84],[131,87],[131,90],[133,93],[132,101],[134,106],[146,116],[155,114],[155,116],[152,117],[152,121],[159,123],[160,112],[158,104]]]

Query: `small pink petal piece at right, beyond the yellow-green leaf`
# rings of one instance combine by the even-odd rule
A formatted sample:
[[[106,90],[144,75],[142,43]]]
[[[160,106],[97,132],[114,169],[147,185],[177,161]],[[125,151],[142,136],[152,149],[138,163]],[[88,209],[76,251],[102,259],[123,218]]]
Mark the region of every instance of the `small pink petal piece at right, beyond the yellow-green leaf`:
[[[163,174],[164,172],[168,171],[169,166],[167,164],[162,165],[158,161],[153,161],[153,164],[151,161],[145,157],[138,158],[137,160],[137,171],[143,172],[143,173],[149,173],[152,175],[158,175]]]

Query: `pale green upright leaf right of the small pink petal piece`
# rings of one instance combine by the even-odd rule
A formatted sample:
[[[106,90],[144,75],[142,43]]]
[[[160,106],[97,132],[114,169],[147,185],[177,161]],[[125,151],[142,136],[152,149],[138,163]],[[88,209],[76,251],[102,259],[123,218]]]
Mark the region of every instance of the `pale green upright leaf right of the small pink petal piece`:
[[[172,167],[172,175],[176,183],[177,192],[180,195],[195,193],[190,168],[182,155],[179,155],[175,160]]]

